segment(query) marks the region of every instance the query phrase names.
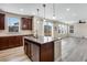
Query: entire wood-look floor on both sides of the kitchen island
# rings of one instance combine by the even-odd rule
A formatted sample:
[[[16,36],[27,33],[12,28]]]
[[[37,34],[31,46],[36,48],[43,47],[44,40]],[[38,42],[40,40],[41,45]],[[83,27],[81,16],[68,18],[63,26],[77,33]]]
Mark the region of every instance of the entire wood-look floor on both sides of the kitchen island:
[[[31,62],[23,46],[0,51],[0,62]],[[62,62],[87,62],[87,39],[62,40]]]

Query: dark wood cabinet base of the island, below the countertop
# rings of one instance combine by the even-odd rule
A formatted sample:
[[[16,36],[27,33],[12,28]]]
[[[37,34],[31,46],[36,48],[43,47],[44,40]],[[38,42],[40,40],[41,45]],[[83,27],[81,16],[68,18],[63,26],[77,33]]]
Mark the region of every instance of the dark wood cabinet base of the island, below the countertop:
[[[33,62],[53,62],[54,61],[54,42],[39,44],[24,39],[24,52]]]

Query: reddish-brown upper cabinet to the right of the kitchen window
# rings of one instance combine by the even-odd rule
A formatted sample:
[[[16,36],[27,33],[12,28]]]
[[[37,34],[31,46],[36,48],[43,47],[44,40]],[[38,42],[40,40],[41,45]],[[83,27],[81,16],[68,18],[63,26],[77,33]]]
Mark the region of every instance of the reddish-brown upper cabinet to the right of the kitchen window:
[[[22,18],[22,30],[32,30],[32,18]]]

